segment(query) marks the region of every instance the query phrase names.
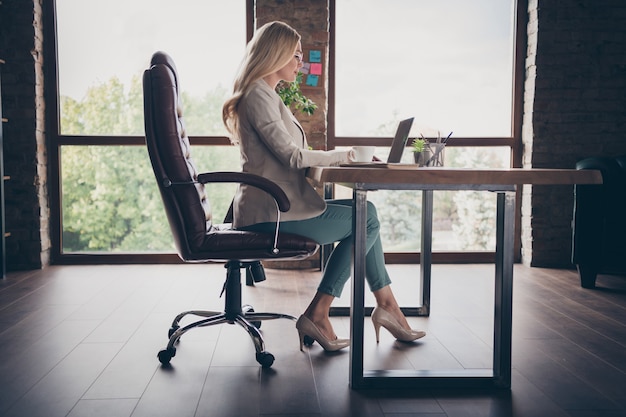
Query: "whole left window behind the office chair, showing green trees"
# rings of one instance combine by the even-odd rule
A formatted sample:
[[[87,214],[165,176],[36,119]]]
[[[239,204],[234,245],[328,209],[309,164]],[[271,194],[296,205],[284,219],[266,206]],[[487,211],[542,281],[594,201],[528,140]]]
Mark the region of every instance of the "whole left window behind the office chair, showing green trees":
[[[250,28],[250,0],[56,0],[49,27],[56,74],[48,79],[54,121],[51,161],[58,172],[51,218],[54,255],[173,252],[143,146],[142,75],[155,51],[180,76],[186,127],[200,170],[238,170],[221,105]],[[58,80],[58,83],[56,82]],[[53,175],[57,177],[57,175]],[[213,187],[213,186],[211,186]],[[209,189],[215,218],[235,185]],[[53,190],[54,191],[54,190]],[[58,246],[58,249],[57,249]],[[57,253],[58,251],[58,253]]]

